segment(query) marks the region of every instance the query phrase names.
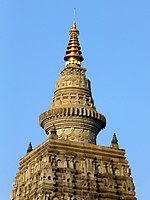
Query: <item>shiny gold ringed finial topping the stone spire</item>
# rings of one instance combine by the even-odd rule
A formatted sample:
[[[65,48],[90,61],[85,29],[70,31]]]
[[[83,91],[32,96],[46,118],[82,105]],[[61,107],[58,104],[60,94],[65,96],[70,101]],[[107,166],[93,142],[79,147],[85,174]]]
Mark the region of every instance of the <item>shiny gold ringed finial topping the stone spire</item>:
[[[69,31],[69,34],[70,34],[70,40],[67,46],[67,51],[64,60],[68,61],[69,63],[80,64],[80,62],[83,61],[83,57],[82,57],[82,52],[80,50],[81,48],[78,40],[79,31],[76,28],[75,19],[73,21],[72,28]]]

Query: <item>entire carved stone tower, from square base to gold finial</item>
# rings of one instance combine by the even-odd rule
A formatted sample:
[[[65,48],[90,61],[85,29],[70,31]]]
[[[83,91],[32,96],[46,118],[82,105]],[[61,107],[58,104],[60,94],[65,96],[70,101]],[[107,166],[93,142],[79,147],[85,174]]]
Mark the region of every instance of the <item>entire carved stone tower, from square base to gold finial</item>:
[[[39,117],[48,138],[35,149],[29,144],[10,200],[136,200],[116,134],[109,147],[96,145],[106,118],[94,106],[75,21],[69,34],[52,104]]]

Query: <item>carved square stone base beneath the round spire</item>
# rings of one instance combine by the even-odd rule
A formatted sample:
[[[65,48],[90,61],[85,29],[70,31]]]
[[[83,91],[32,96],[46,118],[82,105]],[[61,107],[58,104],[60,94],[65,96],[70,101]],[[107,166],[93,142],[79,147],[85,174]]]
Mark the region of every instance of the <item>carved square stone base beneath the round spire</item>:
[[[20,160],[10,200],[136,200],[125,150],[55,134]]]

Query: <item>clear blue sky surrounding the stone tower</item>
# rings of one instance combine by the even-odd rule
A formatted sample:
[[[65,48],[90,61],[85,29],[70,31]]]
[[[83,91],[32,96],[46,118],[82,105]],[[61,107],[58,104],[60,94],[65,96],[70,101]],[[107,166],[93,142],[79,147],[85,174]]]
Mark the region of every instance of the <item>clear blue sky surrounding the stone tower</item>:
[[[138,200],[150,189],[150,1],[0,0],[0,199],[8,200],[19,159],[46,134],[38,124],[77,27],[96,108],[107,118],[99,145],[116,132]]]

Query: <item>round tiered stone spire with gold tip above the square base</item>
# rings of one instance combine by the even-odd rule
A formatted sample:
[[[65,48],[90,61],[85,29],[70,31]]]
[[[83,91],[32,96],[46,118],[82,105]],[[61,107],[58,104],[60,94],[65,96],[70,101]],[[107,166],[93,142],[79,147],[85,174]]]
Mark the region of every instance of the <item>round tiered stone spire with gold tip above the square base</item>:
[[[40,125],[47,134],[55,125],[58,138],[96,143],[96,136],[106,126],[105,117],[96,111],[86,68],[78,41],[79,31],[73,22],[67,47],[65,68],[56,81],[50,109],[40,115]]]

